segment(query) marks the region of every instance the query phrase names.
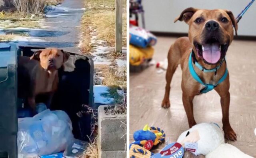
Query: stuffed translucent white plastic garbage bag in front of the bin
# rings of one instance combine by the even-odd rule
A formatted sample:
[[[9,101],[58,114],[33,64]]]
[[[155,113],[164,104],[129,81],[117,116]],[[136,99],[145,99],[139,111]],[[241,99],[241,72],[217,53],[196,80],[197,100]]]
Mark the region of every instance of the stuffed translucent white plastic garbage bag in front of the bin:
[[[19,157],[58,153],[73,142],[72,123],[64,111],[47,109],[18,120]]]

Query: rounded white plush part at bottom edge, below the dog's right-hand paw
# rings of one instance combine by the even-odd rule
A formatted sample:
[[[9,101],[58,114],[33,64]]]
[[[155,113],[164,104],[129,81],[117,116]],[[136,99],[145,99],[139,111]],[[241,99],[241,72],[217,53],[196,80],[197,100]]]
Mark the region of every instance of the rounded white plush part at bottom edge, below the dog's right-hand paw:
[[[244,154],[231,144],[220,144],[218,148],[206,155],[206,158],[253,158]]]

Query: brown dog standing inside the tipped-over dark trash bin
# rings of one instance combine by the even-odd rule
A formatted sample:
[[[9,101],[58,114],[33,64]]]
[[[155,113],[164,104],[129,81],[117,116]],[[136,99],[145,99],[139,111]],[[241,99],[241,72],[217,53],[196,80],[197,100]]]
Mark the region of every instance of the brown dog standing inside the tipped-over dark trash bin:
[[[25,98],[28,105],[36,109],[35,98],[50,93],[58,87],[58,69],[68,60],[69,53],[57,48],[36,51],[31,57],[18,57],[18,97]]]

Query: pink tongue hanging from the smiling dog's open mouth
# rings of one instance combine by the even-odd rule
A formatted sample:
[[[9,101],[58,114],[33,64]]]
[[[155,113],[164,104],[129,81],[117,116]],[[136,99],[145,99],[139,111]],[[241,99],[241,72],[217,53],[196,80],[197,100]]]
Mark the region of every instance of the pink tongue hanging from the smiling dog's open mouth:
[[[204,45],[203,58],[208,63],[217,63],[220,60],[220,50],[218,43]]]

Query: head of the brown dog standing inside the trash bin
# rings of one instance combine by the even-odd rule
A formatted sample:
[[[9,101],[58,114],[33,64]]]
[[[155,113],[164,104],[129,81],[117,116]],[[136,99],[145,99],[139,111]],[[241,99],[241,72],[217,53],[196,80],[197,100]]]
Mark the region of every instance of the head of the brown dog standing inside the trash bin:
[[[59,69],[68,60],[69,53],[57,48],[47,48],[36,51],[30,59],[40,61],[40,65],[47,71]]]

